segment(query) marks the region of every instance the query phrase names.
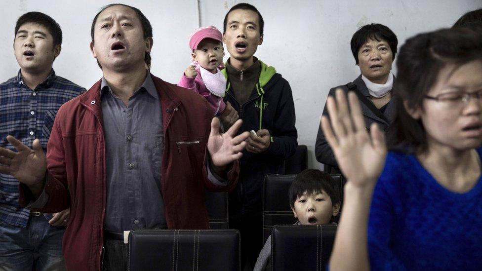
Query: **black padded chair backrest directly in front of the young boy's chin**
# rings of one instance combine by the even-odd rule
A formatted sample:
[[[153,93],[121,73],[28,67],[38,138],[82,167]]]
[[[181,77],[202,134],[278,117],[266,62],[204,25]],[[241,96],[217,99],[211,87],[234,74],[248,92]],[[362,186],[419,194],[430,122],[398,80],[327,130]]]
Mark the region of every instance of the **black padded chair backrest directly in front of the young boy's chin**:
[[[324,271],[337,225],[277,225],[272,235],[272,270]]]

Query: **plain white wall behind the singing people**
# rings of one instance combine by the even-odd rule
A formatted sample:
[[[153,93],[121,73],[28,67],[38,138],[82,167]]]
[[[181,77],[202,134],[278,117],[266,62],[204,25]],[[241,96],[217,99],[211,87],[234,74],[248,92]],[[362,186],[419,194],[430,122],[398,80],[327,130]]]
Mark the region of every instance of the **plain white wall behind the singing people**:
[[[188,36],[198,27],[197,0],[125,1],[138,7],[154,28],[151,71],[176,83],[190,63]],[[237,0],[199,0],[201,26],[223,28],[226,12]],[[355,79],[360,71],[350,50],[351,36],[367,23],[390,27],[399,45],[419,32],[451,26],[481,0],[246,0],[265,20],[264,42],[256,56],[274,66],[293,90],[298,142],[308,146],[309,167],[321,168],[314,145],[328,90]],[[28,11],[53,17],[62,27],[62,52],[54,62],[57,75],[89,88],[101,76],[89,49],[90,25],[99,8],[111,1],[3,0],[0,18],[0,80],[13,77],[17,18]],[[226,52],[227,56],[229,56]]]

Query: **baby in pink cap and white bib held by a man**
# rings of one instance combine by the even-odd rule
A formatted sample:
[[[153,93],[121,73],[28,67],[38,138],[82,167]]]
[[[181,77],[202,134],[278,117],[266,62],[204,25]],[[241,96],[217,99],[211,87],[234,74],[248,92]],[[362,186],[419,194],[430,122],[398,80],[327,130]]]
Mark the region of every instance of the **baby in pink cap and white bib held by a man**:
[[[201,27],[191,33],[189,47],[193,64],[186,69],[178,85],[201,94],[215,116],[223,115],[227,108],[223,101],[226,78],[219,70],[223,65],[223,34],[214,26]]]

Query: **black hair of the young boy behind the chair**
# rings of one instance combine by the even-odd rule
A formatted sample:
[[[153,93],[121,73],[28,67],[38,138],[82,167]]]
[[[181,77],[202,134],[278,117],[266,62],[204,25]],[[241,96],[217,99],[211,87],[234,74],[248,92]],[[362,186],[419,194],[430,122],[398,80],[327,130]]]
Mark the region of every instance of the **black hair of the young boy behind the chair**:
[[[319,169],[305,169],[298,173],[289,187],[289,205],[294,208],[294,202],[305,192],[308,194],[324,191],[335,205],[340,203],[339,187],[335,180],[326,172]]]

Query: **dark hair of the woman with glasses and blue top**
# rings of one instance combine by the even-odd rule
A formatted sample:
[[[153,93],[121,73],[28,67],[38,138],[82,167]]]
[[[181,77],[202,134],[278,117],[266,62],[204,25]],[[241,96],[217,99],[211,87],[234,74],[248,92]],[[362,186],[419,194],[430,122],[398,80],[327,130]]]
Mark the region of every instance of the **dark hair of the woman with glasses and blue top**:
[[[405,152],[424,152],[426,132],[420,120],[413,119],[403,103],[411,109],[423,109],[424,96],[436,84],[440,71],[447,65],[454,70],[471,61],[482,61],[482,37],[469,29],[441,29],[407,39],[397,60],[397,117],[389,132],[391,148]]]

